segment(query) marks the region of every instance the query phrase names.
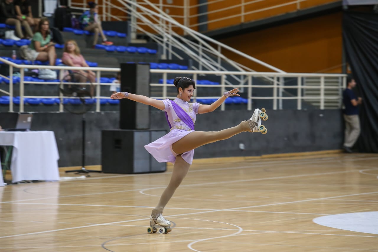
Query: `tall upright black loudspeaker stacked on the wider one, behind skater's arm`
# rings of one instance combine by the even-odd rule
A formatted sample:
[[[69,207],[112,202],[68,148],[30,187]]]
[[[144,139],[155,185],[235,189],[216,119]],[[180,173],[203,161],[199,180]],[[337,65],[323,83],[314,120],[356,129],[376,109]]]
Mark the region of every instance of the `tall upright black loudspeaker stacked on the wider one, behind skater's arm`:
[[[150,96],[150,65],[121,64],[121,91]],[[150,106],[121,99],[119,107],[120,129],[149,129]]]

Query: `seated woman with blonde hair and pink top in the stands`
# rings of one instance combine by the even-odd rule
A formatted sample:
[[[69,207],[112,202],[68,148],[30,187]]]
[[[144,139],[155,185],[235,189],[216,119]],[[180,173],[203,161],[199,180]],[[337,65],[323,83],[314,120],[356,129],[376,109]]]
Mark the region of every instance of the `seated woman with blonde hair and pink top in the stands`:
[[[84,57],[80,54],[80,48],[75,40],[65,42],[62,62],[71,67],[89,67]],[[78,82],[87,82],[89,80],[93,83],[96,81],[96,75],[92,71],[73,70],[72,72],[80,73],[80,75],[75,76]]]

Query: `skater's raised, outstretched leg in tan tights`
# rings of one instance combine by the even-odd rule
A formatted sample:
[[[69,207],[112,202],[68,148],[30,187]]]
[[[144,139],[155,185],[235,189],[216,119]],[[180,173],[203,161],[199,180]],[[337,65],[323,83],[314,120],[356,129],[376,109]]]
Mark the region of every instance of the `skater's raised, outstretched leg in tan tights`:
[[[250,125],[251,123],[252,125]],[[223,129],[221,131],[194,131],[173,143],[172,149],[174,152],[182,154],[208,143],[228,139],[241,132],[251,132],[251,128],[253,128],[255,125],[255,122],[248,120],[242,121],[235,127]]]

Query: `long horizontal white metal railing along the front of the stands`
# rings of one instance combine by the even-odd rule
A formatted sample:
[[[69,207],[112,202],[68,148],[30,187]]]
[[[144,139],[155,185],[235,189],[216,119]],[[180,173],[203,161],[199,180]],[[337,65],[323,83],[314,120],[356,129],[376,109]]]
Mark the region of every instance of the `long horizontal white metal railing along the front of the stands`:
[[[23,98],[62,98],[62,96],[25,96],[24,92],[24,85],[25,84],[56,84],[60,85],[60,82],[31,82],[31,81],[24,81],[25,76],[25,68],[28,69],[38,69],[38,68],[48,68],[52,70],[91,70],[93,72],[96,72],[97,82],[93,83],[93,85],[96,87],[96,93],[95,96],[93,96],[94,99],[96,99],[96,112],[101,111],[100,106],[100,99],[101,98],[109,98],[109,96],[101,96],[101,86],[109,86],[112,84],[109,83],[101,83],[101,73],[103,72],[119,72],[120,68],[107,68],[107,67],[65,67],[65,66],[38,66],[38,65],[18,65],[14,64],[13,62],[7,61],[5,59],[0,58],[0,61],[4,62],[5,64],[9,65],[9,76],[11,78],[8,78],[7,76],[0,75],[2,78],[9,80],[9,91],[0,89],[0,94],[3,93],[5,95],[9,95],[9,112],[14,112],[14,106],[13,106],[13,78],[12,73],[14,68],[20,69],[20,105],[19,105],[19,112],[24,112],[24,99]],[[62,78],[62,72],[60,71],[60,79]],[[314,74],[314,73],[272,73],[272,72],[225,72],[225,71],[196,71],[196,70],[157,70],[157,69],[151,69],[150,73],[152,75],[159,75],[163,78],[163,83],[150,83],[151,87],[161,87],[161,96],[151,96],[151,98],[155,99],[166,99],[166,98],[175,98],[176,96],[169,96],[167,89],[172,88],[172,84],[167,84],[167,77],[168,74],[175,74],[180,76],[192,76],[192,79],[197,82],[197,79],[199,76],[203,75],[217,75],[220,76],[220,84],[219,85],[201,85],[197,84],[197,91],[195,92],[195,95],[193,96],[194,101],[197,99],[214,99],[219,98],[223,95],[223,92],[227,91],[229,89],[228,84],[226,83],[227,76],[231,75],[240,75],[246,77],[246,82],[242,83],[240,85],[237,85],[236,87],[239,87],[240,89],[244,89],[247,91],[247,109],[252,110],[252,101],[253,100],[271,100],[272,101],[272,108],[274,110],[277,109],[283,109],[282,101],[283,100],[296,100],[297,101],[297,109],[302,109],[302,101],[305,99],[319,99],[320,102],[320,109],[324,109],[324,103],[327,99],[341,99],[342,97],[340,95],[338,96],[325,96],[325,90],[326,89],[338,89],[343,90],[346,87],[346,75],[344,74]],[[261,76],[268,76],[273,81],[271,84],[265,85],[265,84],[253,84],[253,78],[261,77]],[[302,78],[306,77],[317,77],[320,79],[320,85],[319,86],[304,86],[302,85]],[[327,87],[325,86],[325,78],[335,78],[339,77],[341,79],[338,87]],[[297,82],[296,85],[292,86],[283,86],[283,78],[296,78]],[[201,93],[202,88],[204,87],[211,87],[214,89],[218,89],[218,96],[199,96],[198,93]],[[254,89],[257,88],[265,88],[265,89],[271,89],[273,90],[272,96],[257,96],[254,95]],[[287,89],[296,89],[296,95],[283,95],[283,92]],[[302,90],[303,89],[318,89],[320,90],[319,96],[303,96]],[[341,92],[339,92],[341,93]],[[225,110],[225,103],[221,105],[221,110]],[[64,107],[62,104],[62,100],[60,100],[59,105],[59,111],[64,111]]]

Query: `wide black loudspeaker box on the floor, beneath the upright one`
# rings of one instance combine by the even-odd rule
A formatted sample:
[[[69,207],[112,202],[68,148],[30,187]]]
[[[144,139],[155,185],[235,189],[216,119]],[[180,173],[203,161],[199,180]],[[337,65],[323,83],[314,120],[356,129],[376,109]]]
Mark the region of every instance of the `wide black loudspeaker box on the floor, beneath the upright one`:
[[[165,135],[166,131],[152,130],[103,130],[101,166],[104,173],[153,173],[167,170],[166,163],[159,163],[144,145]]]

